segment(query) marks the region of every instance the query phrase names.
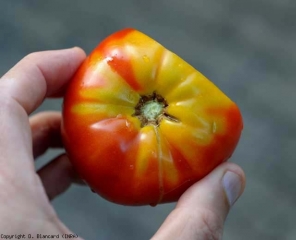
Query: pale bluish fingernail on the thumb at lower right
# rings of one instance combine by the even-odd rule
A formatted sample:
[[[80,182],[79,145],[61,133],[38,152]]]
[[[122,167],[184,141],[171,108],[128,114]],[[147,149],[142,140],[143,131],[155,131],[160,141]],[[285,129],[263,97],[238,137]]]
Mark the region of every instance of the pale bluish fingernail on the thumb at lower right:
[[[241,179],[236,173],[227,171],[223,176],[222,185],[229,205],[232,206],[240,195],[242,188]]]

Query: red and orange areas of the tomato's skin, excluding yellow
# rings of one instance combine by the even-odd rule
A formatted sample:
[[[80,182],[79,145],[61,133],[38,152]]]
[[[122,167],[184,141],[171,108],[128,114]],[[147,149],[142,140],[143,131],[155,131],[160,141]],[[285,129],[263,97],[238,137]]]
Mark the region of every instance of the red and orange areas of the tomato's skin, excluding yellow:
[[[120,45],[131,34],[137,34],[137,31],[125,29],[106,38],[81,65],[64,97],[62,136],[73,166],[94,192],[118,204],[154,206],[177,201],[190,185],[226,161],[238,144],[243,121],[238,107],[225,97],[224,105],[209,104],[202,111],[204,119],[209,122],[212,121],[209,119],[220,121],[221,133],[212,134],[208,144],[197,144],[184,138],[176,143],[175,139],[163,137],[166,136],[166,128],[162,125],[157,127],[155,136],[153,131],[143,133],[140,124],[125,114],[110,117],[104,112],[82,114],[74,111],[75,106],[82,103],[95,105],[104,102],[104,99],[83,93],[84,90],[106,89],[109,80],[97,70],[102,61],[106,61],[110,71],[118,74],[132,91],[143,95],[145,84],[137,79],[132,57]],[[211,87],[207,89],[211,90]],[[111,94],[112,89],[109,91]],[[142,147],[143,136],[151,148]],[[159,152],[160,144],[162,149]],[[196,163],[193,163],[194,159],[188,160],[180,145],[196,149],[192,150],[192,156],[198,156]],[[166,150],[170,152],[173,163],[159,160],[159,153]],[[139,164],[137,158],[143,154],[148,156],[148,160],[142,171],[139,169],[143,163]]]

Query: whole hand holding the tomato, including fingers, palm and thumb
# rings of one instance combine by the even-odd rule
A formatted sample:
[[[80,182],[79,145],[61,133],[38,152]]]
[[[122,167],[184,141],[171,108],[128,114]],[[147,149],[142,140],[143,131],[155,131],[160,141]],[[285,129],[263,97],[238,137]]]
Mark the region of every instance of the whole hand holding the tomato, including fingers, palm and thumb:
[[[0,78],[0,233],[64,234],[50,200],[79,182],[67,156],[36,172],[34,159],[62,147],[59,112],[30,117],[47,97],[61,97],[86,55],[80,48],[27,55]],[[230,207],[242,194],[245,175],[223,163],[191,186],[152,237],[221,239]]]

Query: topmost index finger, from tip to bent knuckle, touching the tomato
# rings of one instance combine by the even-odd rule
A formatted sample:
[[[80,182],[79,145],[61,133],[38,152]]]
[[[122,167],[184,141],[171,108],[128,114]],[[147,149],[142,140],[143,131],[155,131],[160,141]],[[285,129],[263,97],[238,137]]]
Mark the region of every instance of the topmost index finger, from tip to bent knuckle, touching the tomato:
[[[80,48],[29,54],[0,81],[0,96],[16,100],[28,114],[45,97],[59,94],[85,59]]]

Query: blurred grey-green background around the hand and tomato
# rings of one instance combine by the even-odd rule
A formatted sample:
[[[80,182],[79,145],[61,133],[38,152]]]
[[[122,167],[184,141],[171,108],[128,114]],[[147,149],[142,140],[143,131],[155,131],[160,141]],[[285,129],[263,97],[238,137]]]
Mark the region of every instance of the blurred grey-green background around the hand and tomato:
[[[28,53],[80,46],[133,27],[201,71],[240,107],[231,161],[246,172],[224,239],[296,239],[296,4],[293,0],[0,0],[0,75]],[[38,111],[60,110],[46,100]],[[37,167],[59,153],[50,150]],[[125,207],[73,186],[53,201],[85,239],[149,239],[175,204]]]

